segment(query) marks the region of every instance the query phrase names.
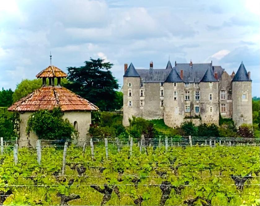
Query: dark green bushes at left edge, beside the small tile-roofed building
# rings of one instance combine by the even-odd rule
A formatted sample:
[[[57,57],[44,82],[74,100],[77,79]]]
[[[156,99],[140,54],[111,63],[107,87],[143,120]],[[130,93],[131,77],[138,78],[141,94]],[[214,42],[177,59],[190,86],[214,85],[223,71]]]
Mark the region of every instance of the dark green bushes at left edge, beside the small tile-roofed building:
[[[14,132],[14,115],[7,108],[0,108],[0,137],[6,140],[13,140],[17,136]]]

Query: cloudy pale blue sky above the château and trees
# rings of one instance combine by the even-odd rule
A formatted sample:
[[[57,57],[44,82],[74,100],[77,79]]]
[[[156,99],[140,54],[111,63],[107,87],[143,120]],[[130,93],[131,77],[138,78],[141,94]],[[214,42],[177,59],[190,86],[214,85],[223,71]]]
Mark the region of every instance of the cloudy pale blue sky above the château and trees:
[[[220,65],[229,74],[243,61],[252,95],[260,96],[260,1],[23,0],[0,1],[0,88],[15,89],[50,64],[67,71],[86,60],[165,68]]]

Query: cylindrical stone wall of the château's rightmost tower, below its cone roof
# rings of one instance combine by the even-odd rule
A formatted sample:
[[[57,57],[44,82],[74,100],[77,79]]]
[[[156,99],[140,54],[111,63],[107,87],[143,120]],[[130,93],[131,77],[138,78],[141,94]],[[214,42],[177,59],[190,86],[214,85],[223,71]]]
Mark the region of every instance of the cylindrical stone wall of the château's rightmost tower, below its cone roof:
[[[252,89],[251,81],[233,81],[233,121],[239,127],[241,124],[252,124]],[[243,99],[243,95],[245,99]]]

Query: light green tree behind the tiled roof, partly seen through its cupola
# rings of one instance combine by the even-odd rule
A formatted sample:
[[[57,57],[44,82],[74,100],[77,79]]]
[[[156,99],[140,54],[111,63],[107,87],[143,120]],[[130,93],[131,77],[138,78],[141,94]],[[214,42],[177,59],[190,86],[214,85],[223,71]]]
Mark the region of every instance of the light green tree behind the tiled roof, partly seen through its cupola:
[[[47,85],[48,83],[47,79]],[[64,84],[68,85],[69,82],[67,79],[61,79],[61,85]],[[55,85],[57,85],[57,79],[55,79]],[[34,90],[39,89],[42,86],[42,79],[23,79],[18,85],[16,85],[15,92],[13,93],[13,102],[18,101],[22,97],[27,96],[28,94],[32,93]]]

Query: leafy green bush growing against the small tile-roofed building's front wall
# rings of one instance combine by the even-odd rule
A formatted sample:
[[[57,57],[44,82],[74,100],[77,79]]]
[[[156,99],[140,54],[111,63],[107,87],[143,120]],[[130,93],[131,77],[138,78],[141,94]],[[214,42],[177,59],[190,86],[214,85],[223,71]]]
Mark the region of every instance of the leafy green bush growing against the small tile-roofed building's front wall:
[[[33,112],[28,118],[26,133],[34,131],[40,139],[65,139],[71,138],[76,131],[68,119],[63,119],[64,113],[60,107],[50,110]]]

